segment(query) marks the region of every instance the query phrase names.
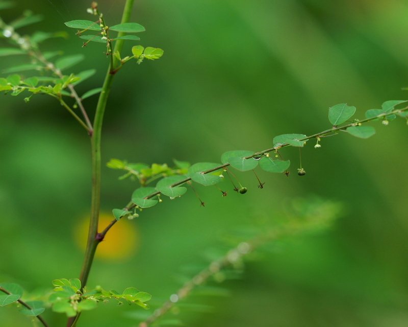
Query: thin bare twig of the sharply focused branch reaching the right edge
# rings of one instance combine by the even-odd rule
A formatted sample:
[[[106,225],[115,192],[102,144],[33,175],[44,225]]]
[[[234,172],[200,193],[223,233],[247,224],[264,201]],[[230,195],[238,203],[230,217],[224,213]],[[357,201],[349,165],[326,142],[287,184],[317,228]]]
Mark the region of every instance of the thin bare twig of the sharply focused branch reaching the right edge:
[[[398,114],[398,113],[401,113],[401,112],[405,112],[405,111],[407,111],[407,110],[408,110],[408,107],[405,107],[405,108],[402,108],[402,109],[395,109],[395,110],[392,110],[392,111],[390,111],[390,112],[381,113],[381,114],[378,114],[378,115],[376,115],[376,116],[374,116],[374,117],[372,117],[372,118],[363,119],[363,120],[358,121],[358,122],[355,122],[355,123],[350,123],[350,124],[347,124],[347,125],[344,125],[344,126],[340,126],[340,127],[333,126],[333,128],[331,128],[331,129],[327,129],[327,130],[324,130],[324,131],[322,131],[322,132],[320,132],[320,133],[317,133],[317,134],[313,134],[313,135],[310,135],[310,136],[306,136],[306,137],[300,138],[300,139],[298,139],[297,141],[307,141],[308,139],[311,139],[311,138],[315,138],[315,137],[318,137],[318,136],[321,137],[321,136],[323,136],[323,135],[325,135],[325,134],[333,133],[333,132],[336,132],[336,131],[339,131],[339,130],[344,130],[344,129],[347,128],[347,127],[359,126],[359,125],[362,124],[362,123],[367,123],[367,122],[373,121],[373,120],[378,119],[378,118],[385,118],[385,117],[388,116],[388,115]],[[328,136],[328,135],[327,135],[327,136]],[[259,156],[259,155],[263,155],[263,154],[265,154],[265,153],[267,153],[267,152],[275,151],[275,150],[278,150],[278,149],[281,149],[281,148],[286,148],[286,147],[289,147],[289,146],[291,146],[291,145],[290,145],[290,144],[277,145],[277,146],[275,146],[275,147],[273,147],[273,148],[266,149],[266,150],[263,150],[263,151],[260,151],[260,152],[256,152],[256,153],[254,153],[254,154],[252,154],[252,155],[248,155],[247,157],[244,157],[244,158],[245,158],[245,159],[250,159],[250,158],[252,158],[252,157]],[[207,170],[207,171],[204,171],[204,172],[202,172],[201,174],[209,174],[209,173],[215,172],[215,171],[217,171],[217,170],[219,170],[219,169],[222,169],[222,168],[225,168],[225,167],[228,167],[228,166],[230,166],[230,164],[220,165],[220,166],[215,167],[215,168],[213,168],[213,169],[209,169],[209,170]],[[191,180],[191,177],[187,177],[187,178],[185,178],[185,179],[183,179],[183,180],[181,180],[181,181],[179,181],[179,182],[176,182],[176,183],[174,183],[174,184],[172,184],[172,185],[169,185],[169,187],[170,187],[170,188],[173,188],[174,186],[177,186],[177,185],[186,183],[186,182],[188,182],[189,180]],[[155,196],[158,195],[158,194],[160,194],[160,191],[157,191],[157,192],[155,192],[155,193],[150,194],[149,196],[146,196],[145,199],[150,199],[150,198],[152,198],[152,197],[155,197]],[[130,210],[131,210],[132,208],[134,208],[135,206],[136,206],[136,204],[134,204],[134,203],[131,201],[131,202],[129,202],[123,209],[124,209],[124,210],[127,210],[127,211],[130,211]],[[104,236],[106,235],[106,233],[109,231],[109,229],[110,229],[115,223],[116,223],[116,220],[115,220],[115,221],[112,221],[112,222],[109,224],[109,226],[104,229],[104,232],[103,232],[103,233],[104,233]]]

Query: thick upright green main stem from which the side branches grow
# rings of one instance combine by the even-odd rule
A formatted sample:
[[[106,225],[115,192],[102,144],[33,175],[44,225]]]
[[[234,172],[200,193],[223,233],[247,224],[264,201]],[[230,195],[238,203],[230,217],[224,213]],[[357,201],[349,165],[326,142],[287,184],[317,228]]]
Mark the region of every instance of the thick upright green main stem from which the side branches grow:
[[[134,0],[126,0],[121,24],[129,22],[132,13]],[[125,33],[118,33],[118,36],[123,36]],[[113,53],[122,50],[123,40],[116,41]],[[113,56],[113,55],[112,55]],[[89,221],[88,242],[85,250],[84,263],[82,265],[80,280],[82,288],[87,284],[89,272],[91,270],[92,262],[95,256],[98,244],[103,240],[103,236],[98,233],[98,219],[100,209],[100,139],[102,123],[104,120],[104,113],[109,97],[109,92],[112,87],[113,77],[115,76],[115,66],[119,60],[114,57],[109,65],[108,72],[105,77],[102,91],[100,92],[98,104],[96,106],[95,118],[93,123],[93,133],[91,136],[92,149],[92,202],[91,202],[91,217]],[[71,326],[74,322],[69,319],[67,326]]]

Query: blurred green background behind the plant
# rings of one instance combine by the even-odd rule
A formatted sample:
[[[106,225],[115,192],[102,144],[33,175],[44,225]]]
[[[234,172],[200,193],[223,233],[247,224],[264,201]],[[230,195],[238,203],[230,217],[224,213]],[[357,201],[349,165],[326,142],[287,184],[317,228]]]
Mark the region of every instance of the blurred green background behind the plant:
[[[108,25],[118,24],[124,1],[98,4]],[[42,49],[86,55],[72,72],[96,68],[97,74],[78,85],[80,95],[101,86],[108,64],[104,45],[81,48],[74,30],[63,24],[92,19],[89,6],[18,0],[0,12],[6,22],[24,9],[44,14],[43,22],[21,33],[70,34],[44,42]],[[146,28],[140,44],[165,52],[154,62],[131,61],[117,74],[105,116],[103,162],[219,162],[228,150],[270,148],[279,134],[327,129],[328,108],[335,104],[355,106],[356,118],[363,119],[384,101],[408,99],[401,90],[408,86],[406,17],[408,1],[402,0],[138,0],[132,20]],[[123,54],[132,45],[126,43]],[[2,57],[0,68],[23,60]],[[0,280],[34,291],[79,275],[90,144],[54,99],[22,98],[0,101]],[[84,101],[91,114],[96,101]],[[115,227],[122,229],[106,246],[110,254],[95,261],[89,285],[134,286],[167,299],[180,287],[174,278],[180,268],[205,263],[203,253],[221,244],[225,231],[282,222],[290,199],[314,195],[342,202],[343,215],[333,228],[276,242],[273,251],[246,264],[242,279],[222,285],[231,289],[230,297],[189,299],[214,305],[213,313],[182,312],[180,319],[187,326],[406,326],[407,126],[402,119],[373,126],[377,133],[367,140],[342,133],[322,139],[320,149],[310,141],[302,150],[304,177],[296,174],[298,150],[285,149],[292,174],[259,170],[262,190],[254,176],[238,173],[245,195],[223,198],[215,188],[197,186],[205,208],[190,191],[120,222]],[[107,215],[137,187],[118,176],[103,167]],[[121,242],[121,232],[133,245]],[[100,305],[83,314],[78,326],[136,326],[132,317],[140,311]],[[52,326],[65,325],[61,315],[44,316]],[[16,325],[32,322],[15,308],[1,308],[0,326]]]

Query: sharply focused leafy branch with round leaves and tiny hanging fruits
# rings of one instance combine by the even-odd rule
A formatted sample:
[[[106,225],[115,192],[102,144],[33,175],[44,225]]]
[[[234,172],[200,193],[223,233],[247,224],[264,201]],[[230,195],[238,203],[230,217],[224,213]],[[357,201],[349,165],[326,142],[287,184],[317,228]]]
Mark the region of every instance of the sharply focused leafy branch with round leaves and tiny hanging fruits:
[[[180,188],[180,186],[184,183],[188,183],[190,181],[195,181],[203,185],[213,185],[222,180],[220,175],[211,175],[214,172],[220,171],[221,169],[226,170],[228,172],[227,167],[232,166],[240,171],[247,171],[253,170],[259,165],[261,168],[268,172],[274,173],[282,173],[286,172],[290,166],[289,160],[273,160],[269,156],[269,152],[275,151],[279,156],[278,153],[279,149],[293,146],[293,147],[303,147],[303,145],[312,138],[317,139],[316,148],[320,147],[318,143],[321,137],[336,135],[339,131],[348,132],[349,134],[360,137],[360,138],[368,138],[375,133],[375,129],[372,126],[363,126],[364,123],[368,123],[371,121],[378,121],[382,120],[382,124],[388,125],[389,121],[392,121],[396,118],[396,116],[400,116],[402,118],[407,119],[408,123],[408,107],[395,109],[396,105],[402,104],[407,101],[400,101],[400,100],[391,100],[386,101],[382,104],[381,109],[370,109],[366,111],[366,119],[363,120],[354,120],[349,124],[345,124],[342,126],[338,126],[340,124],[345,123],[347,120],[351,118],[351,116],[355,113],[355,107],[347,106],[346,104],[338,104],[329,109],[329,121],[330,123],[334,124],[333,128],[326,129],[320,133],[316,133],[310,136],[306,136],[303,134],[283,134],[274,137],[273,144],[274,146],[270,149],[266,149],[260,152],[253,153],[251,151],[228,151],[221,156],[221,161],[223,165],[212,164],[208,162],[201,162],[191,166],[188,170],[188,177],[185,175],[179,176],[170,176],[162,179],[157,184],[155,188],[148,188],[142,187],[137,189],[132,195],[132,201],[130,201],[123,209],[114,209],[113,214],[115,216],[115,220],[112,220],[111,223],[99,233],[99,237],[103,239],[109,229],[117,222],[121,217],[128,216],[132,217],[131,210],[133,208],[146,208],[157,204],[158,200],[151,200],[152,198],[159,196],[160,194],[164,194],[170,197],[181,196],[187,191],[185,188]],[[254,160],[249,160],[253,158]],[[116,160],[116,161],[114,161]],[[139,166],[137,166],[139,165]],[[142,164],[133,164],[133,165],[121,165],[121,161],[117,159],[113,159],[108,163],[108,167],[115,168],[115,169],[125,169],[131,172],[132,170],[136,172],[136,176],[138,176],[139,180],[140,174],[134,168],[139,167]],[[131,167],[131,168],[130,168]],[[132,169],[133,167],[133,169]],[[209,168],[209,169],[206,169]],[[207,178],[206,175],[210,174]],[[299,175],[304,175],[305,172],[302,168],[299,169]],[[141,185],[144,186],[143,179],[141,181]],[[262,184],[260,184],[262,185]],[[238,188],[234,189],[235,191],[243,190],[245,193],[246,189],[242,188],[238,190]],[[171,193],[169,193],[171,191]],[[177,192],[179,191],[179,192]],[[201,202],[202,204],[203,202]]]

